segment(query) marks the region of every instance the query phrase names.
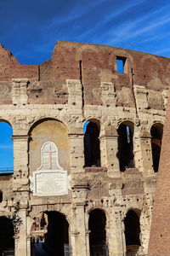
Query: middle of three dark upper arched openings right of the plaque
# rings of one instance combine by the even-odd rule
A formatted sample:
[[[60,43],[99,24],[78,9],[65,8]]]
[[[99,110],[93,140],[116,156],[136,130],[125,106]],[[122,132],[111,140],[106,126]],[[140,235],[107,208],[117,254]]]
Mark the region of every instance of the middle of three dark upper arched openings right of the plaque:
[[[118,159],[120,171],[134,167],[133,155],[133,123],[123,122],[118,128]]]

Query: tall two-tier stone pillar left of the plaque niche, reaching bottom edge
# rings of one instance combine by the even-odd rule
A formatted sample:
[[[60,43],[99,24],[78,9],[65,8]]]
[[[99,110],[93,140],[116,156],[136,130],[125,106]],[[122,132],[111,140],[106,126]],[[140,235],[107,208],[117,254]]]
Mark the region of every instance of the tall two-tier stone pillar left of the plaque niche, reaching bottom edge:
[[[14,201],[20,209],[17,215],[21,218],[20,233],[15,242],[16,256],[30,256],[27,246],[27,221],[26,211],[29,201],[29,179],[28,179],[28,136],[20,135],[13,137],[14,142],[14,182],[13,190],[16,193]]]

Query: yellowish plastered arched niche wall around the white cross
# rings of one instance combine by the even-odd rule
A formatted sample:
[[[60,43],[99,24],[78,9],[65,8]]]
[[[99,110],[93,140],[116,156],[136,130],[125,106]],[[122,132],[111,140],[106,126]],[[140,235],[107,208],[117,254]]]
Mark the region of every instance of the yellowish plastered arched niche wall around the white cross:
[[[59,166],[70,172],[70,141],[67,127],[56,119],[41,119],[29,131],[29,169],[37,170],[42,164],[41,148],[44,143],[54,143],[58,148]]]

